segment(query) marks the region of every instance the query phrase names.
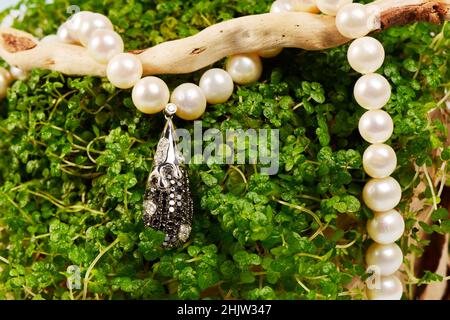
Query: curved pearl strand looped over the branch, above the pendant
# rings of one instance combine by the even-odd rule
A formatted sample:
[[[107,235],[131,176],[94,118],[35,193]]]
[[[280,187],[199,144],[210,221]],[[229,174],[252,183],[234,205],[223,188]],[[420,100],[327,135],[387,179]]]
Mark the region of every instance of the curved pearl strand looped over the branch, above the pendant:
[[[315,0],[277,0],[271,12],[319,12]],[[124,52],[124,43],[114,31],[111,21],[98,13],[81,11],[63,23],[56,35],[41,41],[61,41],[83,45],[99,63],[105,64],[108,80],[117,88],[132,90],[132,100],[138,110],[154,114],[166,105],[177,105],[176,115],[184,120],[200,118],[207,104],[226,102],[233,94],[234,84],[246,85],[257,81],[263,72],[261,58],[278,55],[282,48],[259,53],[242,53],[226,61],[225,70],[213,68],[206,71],[198,85],[184,83],[173,90],[158,77],[142,77],[143,66],[136,55]]]

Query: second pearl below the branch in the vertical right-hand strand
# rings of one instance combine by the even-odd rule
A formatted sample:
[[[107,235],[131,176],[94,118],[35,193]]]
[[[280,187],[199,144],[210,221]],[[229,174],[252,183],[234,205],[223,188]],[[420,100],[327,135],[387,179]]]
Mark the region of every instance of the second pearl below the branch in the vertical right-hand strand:
[[[380,109],[391,98],[391,86],[382,75],[369,73],[356,81],[354,95],[364,109]]]

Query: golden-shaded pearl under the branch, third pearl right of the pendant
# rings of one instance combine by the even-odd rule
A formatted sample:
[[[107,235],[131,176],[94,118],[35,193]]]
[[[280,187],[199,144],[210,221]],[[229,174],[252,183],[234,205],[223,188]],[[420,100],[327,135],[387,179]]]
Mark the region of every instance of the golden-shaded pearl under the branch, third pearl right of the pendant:
[[[226,70],[237,84],[249,84],[262,75],[261,58],[254,53],[237,54],[228,58]]]

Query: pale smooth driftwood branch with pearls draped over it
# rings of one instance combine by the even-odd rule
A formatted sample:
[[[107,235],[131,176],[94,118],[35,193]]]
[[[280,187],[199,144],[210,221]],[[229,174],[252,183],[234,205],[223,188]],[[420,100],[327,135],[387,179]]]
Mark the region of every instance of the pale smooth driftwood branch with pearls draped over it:
[[[380,30],[417,21],[450,20],[450,0],[379,0]],[[335,27],[334,17],[310,13],[280,13],[228,20],[198,34],[145,50],[134,51],[144,74],[190,73],[220,59],[273,47],[322,50],[350,41]],[[105,76],[84,47],[58,42],[41,43],[32,35],[12,28],[0,29],[0,57],[24,70],[43,68],[68,75]]]

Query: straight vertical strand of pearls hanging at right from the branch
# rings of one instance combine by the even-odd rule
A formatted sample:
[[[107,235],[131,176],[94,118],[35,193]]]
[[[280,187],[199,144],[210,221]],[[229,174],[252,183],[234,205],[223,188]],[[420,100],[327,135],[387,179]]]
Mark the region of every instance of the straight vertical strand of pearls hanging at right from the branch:
[[[394,125],[388,113],[381,110],[391,97],[386,78],[375,73],[384,62],[383,45],[366,35],[377,27],[379,10],[376,5],[362,5],[347,0],[317,0],[319,9],[336,15],[339,32],[354,40],[347,52],[350,66],[362,76],[354,88],[357,103],[367,109],[359,121],[361,136],[371,145],[363,155],[363,167],[372,178],[363,189],[363,200],[374,212],[367,222],[367,232],[374,241],[366,252],[366,263],[374,270],[374,287],[368,287],[371,300],[399,300],[401,281],[394,275],[403,262],[403,254],[395,243],[402,236],[405,223],[394,208],[401,199],[400,184],[390,175],[397,166],[395,151],[385,144],[392,136]],[[378,280],[378,281],[377,281]]]

